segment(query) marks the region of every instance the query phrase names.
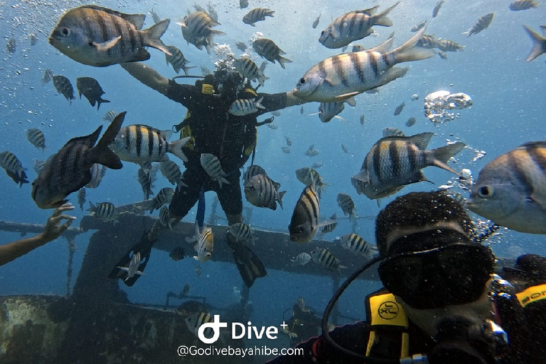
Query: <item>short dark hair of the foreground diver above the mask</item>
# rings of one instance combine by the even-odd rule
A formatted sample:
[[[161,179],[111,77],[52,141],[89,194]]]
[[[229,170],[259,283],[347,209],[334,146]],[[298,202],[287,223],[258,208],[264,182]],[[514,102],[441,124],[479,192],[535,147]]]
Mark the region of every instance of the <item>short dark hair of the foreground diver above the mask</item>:
[[[380,255],[387,255],[387,235],[396,228],[422,228],[454,222],[470,237],[473,223],[463,206],[442,192],[412,192],[400,196],[380,211],[375,220],[375,241]]]

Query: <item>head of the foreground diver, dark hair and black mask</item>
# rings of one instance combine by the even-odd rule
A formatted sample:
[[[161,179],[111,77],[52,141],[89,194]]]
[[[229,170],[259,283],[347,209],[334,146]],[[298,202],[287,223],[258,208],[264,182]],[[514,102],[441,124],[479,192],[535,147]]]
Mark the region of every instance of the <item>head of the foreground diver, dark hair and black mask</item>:
[[[464,305],[483,296],[495,258],[470,239],[472,223],[444,193],[410,193],[378,215],[378,271],[385,287],[414,309]]]

